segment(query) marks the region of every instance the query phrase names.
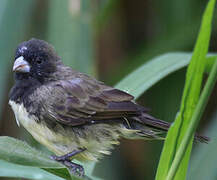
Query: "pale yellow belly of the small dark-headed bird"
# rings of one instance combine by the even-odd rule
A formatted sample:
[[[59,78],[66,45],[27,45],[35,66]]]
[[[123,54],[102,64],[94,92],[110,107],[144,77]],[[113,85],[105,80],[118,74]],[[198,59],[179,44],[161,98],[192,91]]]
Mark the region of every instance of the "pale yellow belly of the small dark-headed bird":
[[[86,148],[87,150],[77,155],[75,159],[97,160],[103,154],[110,154],[113,145],[119,143],[119,130],[122,129],[119,125],[86,126],[85,130],[79,130],[79,134],[83,134],[79,136],[72,128],[64,129],[60,126],[58,131],[51,130],[45,123],[36,122],[35,116],[29,116],[23,105],[12,101],[9,104],[14,111],[18,125],[21,124],[38,142],[56,155],[64,155],[78,148]],[[132,133],[132,131],[127,133]]]

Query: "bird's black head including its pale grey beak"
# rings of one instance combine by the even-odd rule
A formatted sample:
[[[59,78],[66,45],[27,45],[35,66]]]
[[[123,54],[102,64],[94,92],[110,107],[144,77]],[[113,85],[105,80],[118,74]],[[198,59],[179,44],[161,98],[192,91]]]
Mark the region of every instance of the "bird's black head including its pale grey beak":
[[[54,48],[47,42],[39,39],[22,42],[15,53],[15,79],[31,78],[43,82],[56,71],[60,62]]]

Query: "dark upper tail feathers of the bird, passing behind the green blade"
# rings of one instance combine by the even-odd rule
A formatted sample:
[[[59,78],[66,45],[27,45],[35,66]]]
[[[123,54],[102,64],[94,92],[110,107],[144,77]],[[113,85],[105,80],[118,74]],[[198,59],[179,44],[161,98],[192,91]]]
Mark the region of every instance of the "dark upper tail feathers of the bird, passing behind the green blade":
[[[170,127],[170,123],[156,119],[146,113],[143,113],[142,116],[136,117],[135,119],[139,121],[140,123],[145,124],[147,127],[152,128],[153,130],[167,132]],[[209,137],[201,136],[201,135],[198,135],[197,133],[195,134],[194,139],[195,141],[202,142],[202,143],[208,143],[210,141]]]

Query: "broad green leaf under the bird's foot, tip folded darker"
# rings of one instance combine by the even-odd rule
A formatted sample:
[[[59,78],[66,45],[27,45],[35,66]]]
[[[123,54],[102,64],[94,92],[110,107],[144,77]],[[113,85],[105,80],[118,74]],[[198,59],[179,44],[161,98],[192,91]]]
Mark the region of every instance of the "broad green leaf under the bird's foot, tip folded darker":
[[[43,168],[46,171],[58,176],[69,178],[69,173],[65,166],[51,160],[49,155],[44,154],[30,147],[27,143],[12,137],[0,136],[0,160],[23,165],[27,168]],[[77,163],[82,164],[80,162]],[[86,174],[89,175],[93,171],[95,163],[83,163],[82,165],[84,166]],[[73,179],[77,178],[73,177]]]

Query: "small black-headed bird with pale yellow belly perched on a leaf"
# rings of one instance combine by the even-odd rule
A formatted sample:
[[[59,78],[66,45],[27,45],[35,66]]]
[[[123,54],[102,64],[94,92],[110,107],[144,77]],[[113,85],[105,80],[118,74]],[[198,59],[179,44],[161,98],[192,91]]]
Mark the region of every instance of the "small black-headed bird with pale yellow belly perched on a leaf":
[[[121,137],[161,140],[170,127],[147,114],[132,95],[65,66],[43,40],[19,44],[13,71],[9,104],[18,126],[74,174],[83,176],[84,169],[73,159],[96,161],[110,154]]]

